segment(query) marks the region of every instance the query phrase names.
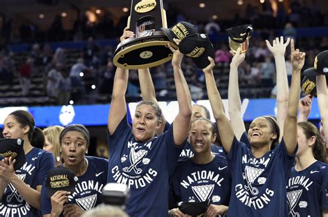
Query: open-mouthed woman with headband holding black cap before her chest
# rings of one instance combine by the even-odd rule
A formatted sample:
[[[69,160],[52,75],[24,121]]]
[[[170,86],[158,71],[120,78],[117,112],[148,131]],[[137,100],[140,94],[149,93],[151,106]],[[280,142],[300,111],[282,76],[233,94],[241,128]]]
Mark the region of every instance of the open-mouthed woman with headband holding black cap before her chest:
[[[47,197],[46,180],[42,184],[43,216],[80,216],[84,211],[100,204],[101,190],[107,184],[108,160],[86,156],[89,131],[81,124],[72,124],[60,133],[60,150],[64,164],[78,177],[73,194],[56,191]]]

